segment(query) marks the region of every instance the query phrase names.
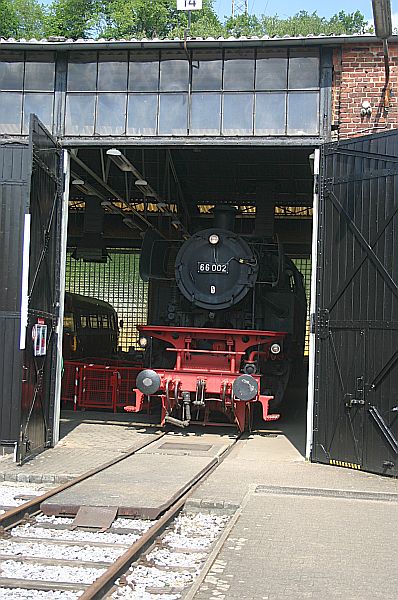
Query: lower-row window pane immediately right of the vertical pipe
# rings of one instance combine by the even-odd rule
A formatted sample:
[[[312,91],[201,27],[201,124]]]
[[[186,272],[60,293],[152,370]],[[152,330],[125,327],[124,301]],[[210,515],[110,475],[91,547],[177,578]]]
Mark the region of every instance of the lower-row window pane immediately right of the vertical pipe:
[[[219,135],[221,121],[221,94],[192,94],[192,135]]]

